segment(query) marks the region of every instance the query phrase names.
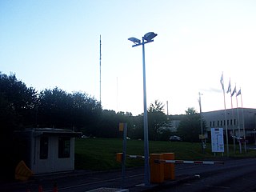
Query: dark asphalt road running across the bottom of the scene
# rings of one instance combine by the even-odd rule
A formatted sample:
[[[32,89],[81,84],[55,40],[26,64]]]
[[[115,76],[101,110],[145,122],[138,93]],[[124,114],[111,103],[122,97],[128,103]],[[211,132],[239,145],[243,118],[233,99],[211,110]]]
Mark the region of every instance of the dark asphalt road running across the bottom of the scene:
[[[30,182],[10,183],[1,186],[0,191],[38,191],[43,192],[85,192],[101,187],[120,189],[122,184],[130,192],[137,191],[256,191],[256,158],[227,159],[224,165],[176,164],[175,181],[165,181],[159,185],[143,186],[142,168],[126,170],[126,179],[122,183],[121,170],[108,172],[74,171],[73,173],[43,175]]]

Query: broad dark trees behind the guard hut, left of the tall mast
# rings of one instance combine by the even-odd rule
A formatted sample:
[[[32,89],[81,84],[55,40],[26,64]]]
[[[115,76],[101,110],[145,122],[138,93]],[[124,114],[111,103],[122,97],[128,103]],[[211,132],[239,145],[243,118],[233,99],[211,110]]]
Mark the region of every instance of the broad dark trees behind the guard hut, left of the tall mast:
[[[94,98],[76,92],[68,94],[55,87],[39,95],[38,123],[40,126],[90,130],[97,126],[102,107]]]

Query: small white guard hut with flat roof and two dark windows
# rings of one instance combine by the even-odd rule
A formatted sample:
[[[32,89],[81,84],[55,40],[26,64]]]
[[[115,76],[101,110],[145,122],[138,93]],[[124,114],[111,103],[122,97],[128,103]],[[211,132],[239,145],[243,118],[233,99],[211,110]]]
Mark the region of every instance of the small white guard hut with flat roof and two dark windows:
[[[34,174],[74,170],[74,138],[81,132],[35,128],[17,133],[19,153]]]

